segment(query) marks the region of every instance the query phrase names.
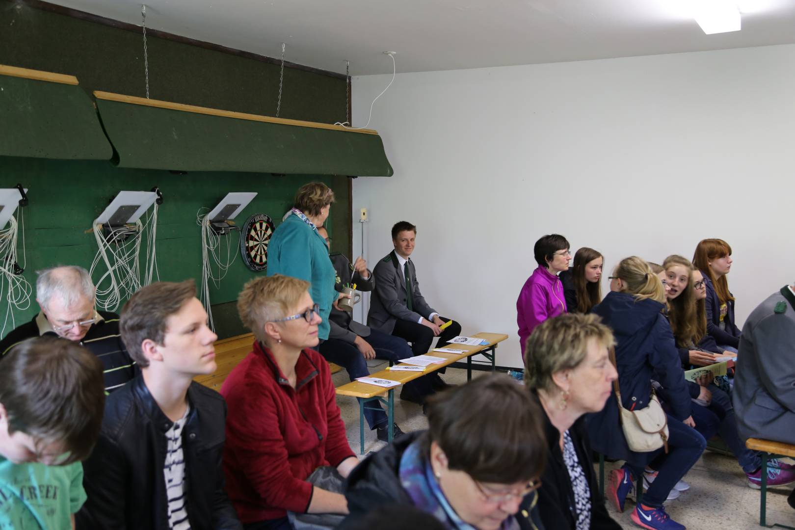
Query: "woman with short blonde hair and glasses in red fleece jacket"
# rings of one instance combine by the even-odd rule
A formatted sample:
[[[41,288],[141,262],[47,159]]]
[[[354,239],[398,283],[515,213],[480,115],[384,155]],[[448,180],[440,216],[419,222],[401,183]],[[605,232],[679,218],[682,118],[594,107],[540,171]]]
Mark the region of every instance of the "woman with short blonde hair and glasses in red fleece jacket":
[[[251,280],[238,297],[254,350],[221,387],[227,400],[223,468],[246,530],[289,529],[287,512],[347,513],[340,493],[312,486],[321,466],[347,477],[359,463],[345,437],[328,363],[315,350],[317,305],[304,280]]]

